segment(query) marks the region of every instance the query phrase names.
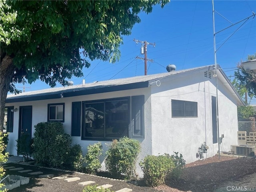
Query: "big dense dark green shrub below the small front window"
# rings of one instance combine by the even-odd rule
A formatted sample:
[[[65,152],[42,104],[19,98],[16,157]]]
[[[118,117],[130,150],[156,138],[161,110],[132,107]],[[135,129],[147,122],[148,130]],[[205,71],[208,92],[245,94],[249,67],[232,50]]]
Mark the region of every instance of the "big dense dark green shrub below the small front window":
[[[60,122],[41,122],[35,126],[34,153],[36,163],[50,167],[62,167],[67,161],[71,136],[66,134]]]

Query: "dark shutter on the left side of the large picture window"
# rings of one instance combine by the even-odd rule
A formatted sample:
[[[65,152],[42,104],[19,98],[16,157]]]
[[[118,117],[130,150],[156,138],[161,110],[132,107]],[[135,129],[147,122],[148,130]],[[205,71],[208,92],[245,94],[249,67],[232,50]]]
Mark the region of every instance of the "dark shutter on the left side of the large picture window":
[[[81,136],[81,104],[72,102],[71,136]]]

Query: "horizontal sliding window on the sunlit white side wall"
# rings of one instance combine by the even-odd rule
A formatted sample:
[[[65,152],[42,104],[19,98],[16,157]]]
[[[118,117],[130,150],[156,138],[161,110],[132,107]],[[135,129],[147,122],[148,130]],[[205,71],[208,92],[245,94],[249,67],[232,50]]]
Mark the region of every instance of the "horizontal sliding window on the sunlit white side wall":
[[[172,117],[197,116],[197,102],[172,100]]]

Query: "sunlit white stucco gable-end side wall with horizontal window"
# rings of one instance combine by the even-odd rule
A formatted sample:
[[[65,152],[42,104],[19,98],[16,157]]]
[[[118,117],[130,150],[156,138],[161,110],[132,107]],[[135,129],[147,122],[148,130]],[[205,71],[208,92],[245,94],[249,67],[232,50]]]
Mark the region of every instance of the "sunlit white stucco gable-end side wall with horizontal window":
[[[204,158],[218,152],[218,144],[212,142],[212,96],[216,96],[215,78],[204,74],[177,76],[175,80],[160,80],[160,86],[152,85],[152,152],[154,155],[179,152],[187,163],[198,160],[198,148],[206,142],[209,146]],[[158,82],[159,85],[159,82]],[[223,146],[230,150],[237,144],[237,109],[233,97],[218,85],[219,130],[224,134]],[[224,96],[223,92],[228,96]],[[198,117],[172,118],[171,100],[198,102]],[[221,148],[220,151],[223,151]]]

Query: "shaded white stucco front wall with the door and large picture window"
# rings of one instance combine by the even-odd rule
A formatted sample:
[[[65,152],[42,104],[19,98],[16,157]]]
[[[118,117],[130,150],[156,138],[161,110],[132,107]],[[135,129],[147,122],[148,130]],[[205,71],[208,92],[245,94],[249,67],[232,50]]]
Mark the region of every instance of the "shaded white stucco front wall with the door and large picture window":
[[[134,89],[134,90],[124,90],[117,92],[108,92],[104,94],[92,94],[84,96],[75,96],[68,98],[59,98],[51,100],[40,100],[40,101],[30,101],[30,102],[16,102],[16,103],[6,103],[6,106],[14,106],[18,108],[20,106],[32,106],[32,137],[34,134],[34,126],[39,122],[47,122],[47,108],[48,104],[51,103],[65,103],[65,122],[63,123],[64,130],[66,133],[71,134],[71,114],[72,114],[72,102],[76,101],[90,101],[90,100],[100,100],[108,98],[118,98],[126,96],[136,96],[136,95],[145,95],[145,138],[138,139],[141,142],[142,150],[138,157],[139,160],[144,159],[144,156],[147,154],[152,154],[152,145],[151,145],[151,98],[150,98],[150,88]],[[9,133],[9,143],[7,146],[7,151],[11,155],[17,155],[16,150],[16,140],[18,139],[18,126],[19,126],[19,110],[14,112],[14,122],[13,122],[13,132]],[[129,133],[130,134],[130,133]],[[73,144],[80,144],[82,146],[83,155],[87,153],[87,146],[89,144],[94,144],[98,141],[96,140],[81,140],[81,136],[72,136]],[[110,142],[101,141],[103,146],[103,154],[107,150],[106,144]],[[104,156],[101,157],[101,162],[104,160]],[[138,165],[137,165],[138,166]],[[139,166],[138,166],[139,168]],[[140,171],[140,169],[138,169]]]

